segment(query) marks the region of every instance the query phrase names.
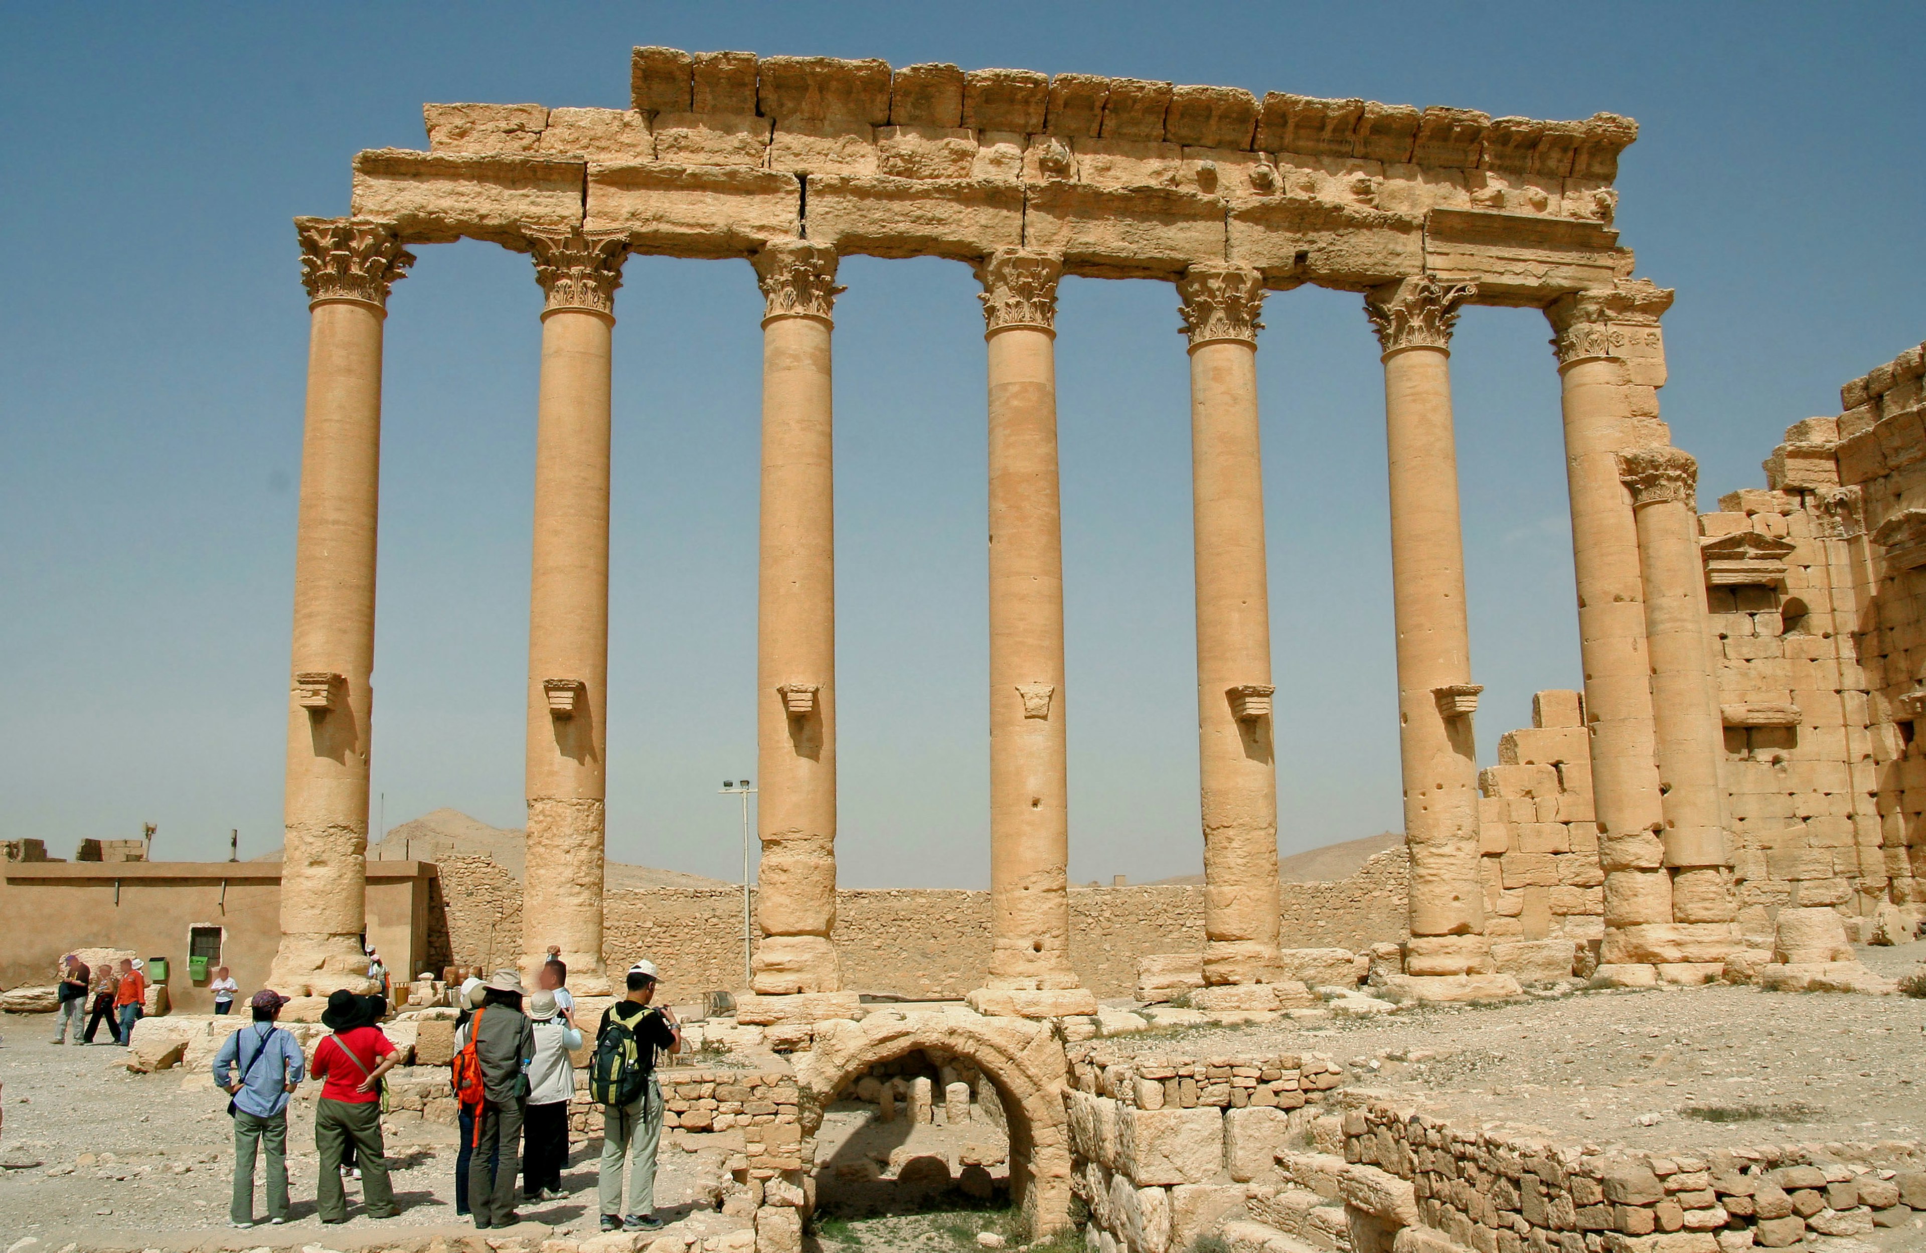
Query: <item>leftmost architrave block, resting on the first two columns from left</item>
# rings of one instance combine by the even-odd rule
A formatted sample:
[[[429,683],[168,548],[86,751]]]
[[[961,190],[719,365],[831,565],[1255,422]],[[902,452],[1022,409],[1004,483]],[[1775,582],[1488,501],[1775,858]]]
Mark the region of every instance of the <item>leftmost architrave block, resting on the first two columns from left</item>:
[[[522,246],[526,227],[582,225],[582,162],[376,148],[354,156],[356,217],[393,221],[406,243],[485,239]]]

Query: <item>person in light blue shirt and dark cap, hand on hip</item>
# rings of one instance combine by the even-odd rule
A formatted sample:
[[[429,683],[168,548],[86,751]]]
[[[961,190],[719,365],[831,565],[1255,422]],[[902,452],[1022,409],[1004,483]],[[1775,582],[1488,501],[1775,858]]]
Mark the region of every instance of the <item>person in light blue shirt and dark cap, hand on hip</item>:
[[[300,1084],[306,1059],[293,1034],[273,1024],[287,997],[268,987],[248,1001],[254,1022],[233,1032],[214,1053],[214,1082],[231,1099],[235,1120],[235,1191],[227,1218],[254,1226],[254,1157],[268,1151],[268,1222],[287,1222],[287,1095]]]

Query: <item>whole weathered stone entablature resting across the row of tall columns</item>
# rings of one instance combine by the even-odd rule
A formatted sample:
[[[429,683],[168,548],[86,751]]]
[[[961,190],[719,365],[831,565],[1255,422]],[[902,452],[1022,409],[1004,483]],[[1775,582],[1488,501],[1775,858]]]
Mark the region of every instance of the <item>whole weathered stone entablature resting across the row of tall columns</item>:
[[[1439,273],[1489,304],[1629,277],[1610,227],[1637,125],[1491,119],[1023,69],[638,48],[630,110],[429,104],[428,152],[354,160],[354,214],[406,243],[624,231],[638,252],[998,248],[1065,271],[1198,262],[1346,291]],[[807,221],[807,229],[805,229]]]

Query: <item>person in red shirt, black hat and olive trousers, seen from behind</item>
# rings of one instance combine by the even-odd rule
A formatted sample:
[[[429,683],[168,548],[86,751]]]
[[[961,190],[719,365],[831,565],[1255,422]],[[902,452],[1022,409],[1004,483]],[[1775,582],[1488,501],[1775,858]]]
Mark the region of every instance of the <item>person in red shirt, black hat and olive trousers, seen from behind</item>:
[[[395,1216],[395,1189],[387,1180],[381,1143],[381,1076],[395,1068],[401,1053],[376,1026],[379,997],[356,997],[341,989],[327,997],[322,1024],[333,1032],[314,1047],[312,1078],[322,1080],[322,1099],[314,1103],[314,1147],[322,1155],[316,1209],[322,1222],[347,1222],[349,1199],[341,1186],[341,1155],[354,1145],[362,1172],[362,1205],[370,1218]]]

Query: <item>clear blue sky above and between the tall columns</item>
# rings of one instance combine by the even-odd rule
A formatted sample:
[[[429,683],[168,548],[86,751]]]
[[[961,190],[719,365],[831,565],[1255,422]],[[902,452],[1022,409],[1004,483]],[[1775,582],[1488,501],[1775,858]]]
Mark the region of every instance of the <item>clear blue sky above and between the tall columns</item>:
[[[1664,416],[1701,504],[1926,335],[1918,6],[12,6],[0,40],[0,837],[279,843],[306,308],[297,214],[424,100],[624,106],[628,48],[1021,65],[1629,114],[1622,241],[1678,289]],[[387,323],[374,780],[389,826],[522,822],[539,293],[420,248]],[[838,304],[842,882],[988,883],[982,321],[963,266]],[[755,768],[761,302],[636,258],[614,339],[609,851],[732,876]],[[1383,389],[1358,298],[1260,350],[1288,853],[1396,830]],[[1186,362],[1163,283],[1065,281],[1071,874],[1200,866]],[[1558,381],[1470,310],[1454,393],[1479,751],[1577,683]]]

